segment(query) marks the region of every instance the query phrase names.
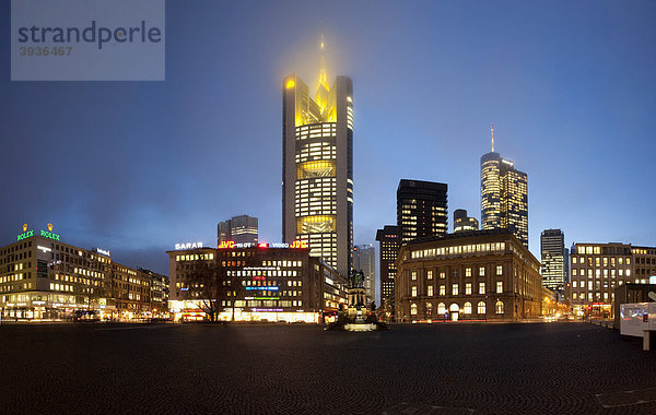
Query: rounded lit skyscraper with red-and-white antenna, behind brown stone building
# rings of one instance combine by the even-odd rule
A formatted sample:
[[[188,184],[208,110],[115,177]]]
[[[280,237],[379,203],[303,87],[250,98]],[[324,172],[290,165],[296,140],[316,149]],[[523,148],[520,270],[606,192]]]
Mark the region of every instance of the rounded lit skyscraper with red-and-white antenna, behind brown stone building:
[[[481,156],[481,228],[509,229],[528,247],[528,179],[526,173],[492,151]]]

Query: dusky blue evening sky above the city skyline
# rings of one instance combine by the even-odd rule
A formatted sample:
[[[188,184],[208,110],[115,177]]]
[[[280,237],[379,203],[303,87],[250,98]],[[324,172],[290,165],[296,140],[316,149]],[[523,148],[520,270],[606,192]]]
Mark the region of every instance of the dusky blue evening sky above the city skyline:
[[[63,241],[168,272],[219,221],[281,238],[281,83],[354,87],[354,232],[396,222],[400,178],[447,182],[480,217],[479,158],[529,180],[530,249],[656,245],[656,2],[168,1],[165,82],[10,82],[0,7],[0,244],[51,222]]]

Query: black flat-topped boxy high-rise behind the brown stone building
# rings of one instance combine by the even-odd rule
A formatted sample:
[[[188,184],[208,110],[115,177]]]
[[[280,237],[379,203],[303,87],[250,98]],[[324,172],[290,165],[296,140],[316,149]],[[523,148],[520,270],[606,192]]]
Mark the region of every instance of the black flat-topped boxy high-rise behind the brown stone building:
[[[446,183],[401,179],[397,190],[401,245],[426,236],[446,235]]]

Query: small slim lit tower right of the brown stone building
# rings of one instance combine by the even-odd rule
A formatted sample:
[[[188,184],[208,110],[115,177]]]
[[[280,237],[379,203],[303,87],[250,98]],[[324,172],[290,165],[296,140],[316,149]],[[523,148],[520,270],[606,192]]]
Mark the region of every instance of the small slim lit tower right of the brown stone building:
[[[567,250],[565,234],[561,229],[546,229],[540,235],[542,256],[542,285],[552,292],[564,294],[567,283]]]

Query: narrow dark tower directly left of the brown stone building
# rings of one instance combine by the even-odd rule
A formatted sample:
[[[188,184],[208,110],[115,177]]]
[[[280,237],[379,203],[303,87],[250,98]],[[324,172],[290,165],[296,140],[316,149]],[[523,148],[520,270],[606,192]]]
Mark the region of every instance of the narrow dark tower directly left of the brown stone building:
[[[376,240],[380,244],[380,306],[385,306],[387,316],[394,315],[394,280],[396,276],[396,260],[399,253],[399,228],[394,225],[385,225],[376,232]]]

